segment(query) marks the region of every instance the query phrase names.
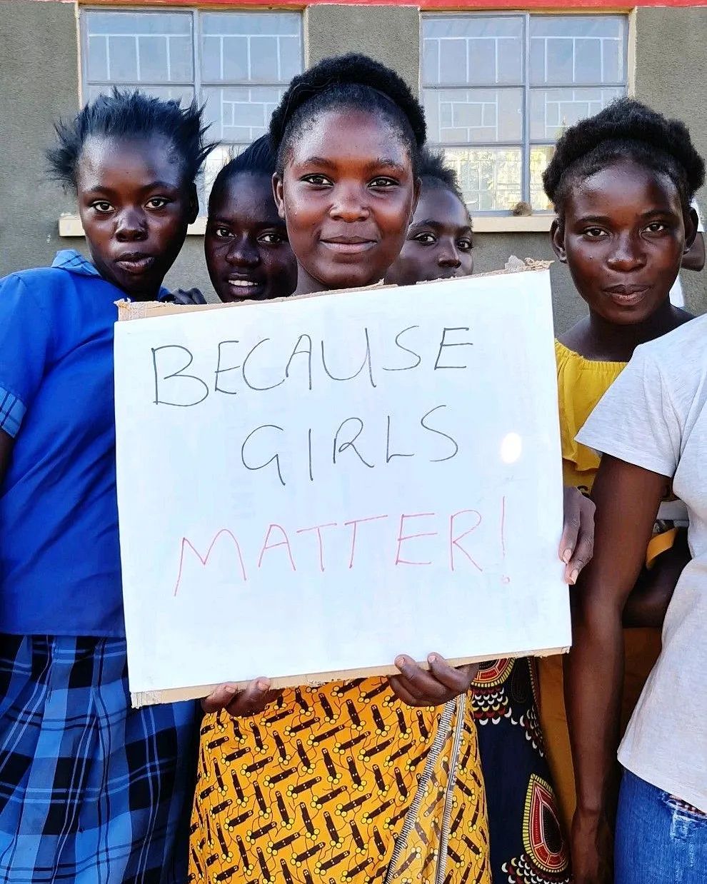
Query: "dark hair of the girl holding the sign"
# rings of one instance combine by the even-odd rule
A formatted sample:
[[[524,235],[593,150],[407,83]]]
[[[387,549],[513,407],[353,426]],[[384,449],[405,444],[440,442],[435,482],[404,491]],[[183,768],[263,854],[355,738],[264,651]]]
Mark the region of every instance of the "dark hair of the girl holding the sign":
[[[270,119],[270,141],[283,173],[285,154],[313,117],[332,108],[379,113],[407,145],[415,173],[427,129],[425,115],[407,83],[372,58],[350,53],[324,58],[294,77]]]

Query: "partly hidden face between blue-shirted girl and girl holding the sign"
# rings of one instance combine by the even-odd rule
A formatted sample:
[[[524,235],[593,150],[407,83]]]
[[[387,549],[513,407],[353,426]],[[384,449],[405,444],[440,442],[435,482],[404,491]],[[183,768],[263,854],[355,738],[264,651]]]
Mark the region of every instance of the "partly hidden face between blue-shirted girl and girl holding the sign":
[[[204,252],[221,301],[267,301],[293,293],[297,262],[270,175],[242,172],[226,182],[211,205]]]

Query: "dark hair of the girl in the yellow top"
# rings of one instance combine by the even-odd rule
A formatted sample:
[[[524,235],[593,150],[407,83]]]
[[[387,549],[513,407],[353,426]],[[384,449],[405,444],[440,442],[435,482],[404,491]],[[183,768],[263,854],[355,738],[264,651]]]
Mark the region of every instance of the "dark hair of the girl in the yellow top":
[[[688,127],[678,119],[666,119],[634,98],[620,98],[596,117],[570,126],[558,141],[543,173],[543,184],[560,220],[574,182],[620,159],[633,160],[667,175],[686,212],[704,182],[704,161],[690,140]]]

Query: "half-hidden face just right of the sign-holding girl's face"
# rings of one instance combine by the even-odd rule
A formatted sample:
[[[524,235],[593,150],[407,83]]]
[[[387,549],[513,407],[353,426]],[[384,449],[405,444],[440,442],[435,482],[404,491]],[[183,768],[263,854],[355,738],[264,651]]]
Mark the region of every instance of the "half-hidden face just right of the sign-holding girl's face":
[[[428,279],[470,276],[473,271],[467,207],[451,190],[423,180],[405,245],[385,281],[412,286]]]

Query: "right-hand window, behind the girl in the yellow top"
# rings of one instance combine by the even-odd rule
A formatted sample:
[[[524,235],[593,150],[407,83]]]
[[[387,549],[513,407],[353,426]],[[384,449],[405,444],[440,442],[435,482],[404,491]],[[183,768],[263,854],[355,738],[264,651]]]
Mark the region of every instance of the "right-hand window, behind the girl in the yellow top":
[[[445,149],[472,212],[529,202],[566,126],[626,94],[620,15],[430,15],[422,95],[430,144]]]

